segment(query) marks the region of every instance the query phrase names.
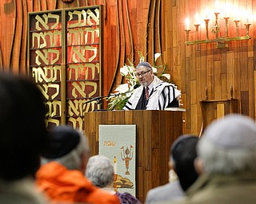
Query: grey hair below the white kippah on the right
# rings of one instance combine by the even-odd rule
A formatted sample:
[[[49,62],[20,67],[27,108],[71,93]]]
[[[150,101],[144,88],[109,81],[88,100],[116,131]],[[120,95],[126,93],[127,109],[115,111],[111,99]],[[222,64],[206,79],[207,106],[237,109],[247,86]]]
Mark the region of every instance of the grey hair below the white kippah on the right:
[[[198,142],[198,156],[209,174],[232,174],[241,171],[256,171],[256,148],[222,147],[202,136]]]

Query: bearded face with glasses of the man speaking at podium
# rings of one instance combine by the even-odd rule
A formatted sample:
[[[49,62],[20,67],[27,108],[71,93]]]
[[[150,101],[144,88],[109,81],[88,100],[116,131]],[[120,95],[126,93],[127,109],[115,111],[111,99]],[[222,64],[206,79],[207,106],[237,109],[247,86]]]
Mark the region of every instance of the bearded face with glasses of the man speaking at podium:
[[[139,66],[136,69],[136,77],[142,86],[148,86],[154,80],[154,73],[152,69],[149,70],[147,67]]]

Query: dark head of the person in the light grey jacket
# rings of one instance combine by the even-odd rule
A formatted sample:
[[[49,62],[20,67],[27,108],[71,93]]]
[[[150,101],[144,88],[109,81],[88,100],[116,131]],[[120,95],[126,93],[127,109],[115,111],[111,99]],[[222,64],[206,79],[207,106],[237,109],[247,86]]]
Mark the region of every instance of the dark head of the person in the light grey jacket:
[[[181,135],[170,148],[170,162],[184,191],[198,179],[198,173],[194,169],[197,144],[197,136]]]

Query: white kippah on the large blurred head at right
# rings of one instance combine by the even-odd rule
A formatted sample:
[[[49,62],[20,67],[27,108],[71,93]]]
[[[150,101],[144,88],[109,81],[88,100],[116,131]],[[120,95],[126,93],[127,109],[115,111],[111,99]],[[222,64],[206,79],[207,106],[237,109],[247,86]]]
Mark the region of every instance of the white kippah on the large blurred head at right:
[[[220,147],[256,147],[256,126],[248,116],[231,114],[210,124],[202,134]]]

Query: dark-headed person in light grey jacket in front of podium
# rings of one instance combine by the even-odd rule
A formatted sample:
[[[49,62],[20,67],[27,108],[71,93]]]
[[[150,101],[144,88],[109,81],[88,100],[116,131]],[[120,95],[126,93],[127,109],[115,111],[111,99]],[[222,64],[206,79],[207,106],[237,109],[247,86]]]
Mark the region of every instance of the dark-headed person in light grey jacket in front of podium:
[[[178,201],[185,197],[184,191],[198,179],[194,169],[197,143],[198,137],[195,135],[181,135],[174,141],[170,147],[169,167],[174,170],[178,180],[149,190],[146,194],[147,204]]]

